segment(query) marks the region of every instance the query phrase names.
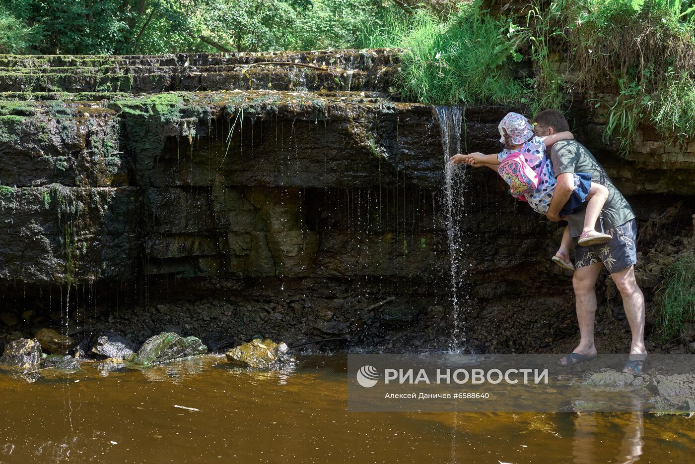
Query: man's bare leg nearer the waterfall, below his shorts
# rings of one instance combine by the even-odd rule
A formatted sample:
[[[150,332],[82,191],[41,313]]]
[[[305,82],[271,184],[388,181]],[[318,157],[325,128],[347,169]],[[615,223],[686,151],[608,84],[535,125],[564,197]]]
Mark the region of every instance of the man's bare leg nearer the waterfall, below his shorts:
[[[602,263],[577,268],[572,277],[574,295],[577,300],[577,320],[579,322],[580,341],[573,352],[578,354],[596,354],[594,345],[594,317],[596,316],[596,279],[603,268]],[[564,361],[562,361],[565,363]]]

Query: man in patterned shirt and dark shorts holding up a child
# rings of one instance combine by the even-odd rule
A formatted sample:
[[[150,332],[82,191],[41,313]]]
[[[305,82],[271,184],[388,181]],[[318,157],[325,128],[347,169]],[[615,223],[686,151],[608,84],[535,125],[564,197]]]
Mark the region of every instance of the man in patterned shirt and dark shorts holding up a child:
[[[552,135],[569,130],[564,115],[556,110],[545,110],[534,117],[537,136]],[[644,367],[646,349],[644,347],[644,295],[635,280],[637,263],[637,225],[635,214],[628,201],[615,188],[603,167],[594,155],[574,140],[562,140],[553,145],[550,161],[557,178],[555,194],[550,202],[546,216],[550,221],[560,221],[559,211],[567,202],[574,189],[573,173],[589,173],[591,181],[607,187],[609,194],[603,212],[596,224],[596,230],[609,234],[612,239],[602,245],[577,246],[577,237],[582,232],[584,212],[566,217],[570,237],[575,242],[575,271],[572,283],[576,297],[577,319],[580,342],[575,350],[560,361],[563,366],[571,366],[596,356],[594,345],[594,318],[596,316],[596,280],[602,268],[606,268],[623,298],[632,343],[630,359],[623,372],[639,374]]]

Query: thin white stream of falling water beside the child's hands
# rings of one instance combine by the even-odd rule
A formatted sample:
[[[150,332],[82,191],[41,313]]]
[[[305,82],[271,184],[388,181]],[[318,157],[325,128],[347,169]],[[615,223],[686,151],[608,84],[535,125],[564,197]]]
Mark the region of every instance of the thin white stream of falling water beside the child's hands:
[[[451,277],[452,333],[450,351],[460,352],[459,343],[465,341],[461,327],[461,295],[459,287],[466,269],[461,266],[461,216],[464,216],[463,176],[458,173],[464,166],[452,167],[449,158],[461,151],[461,107],[436,106],[436,118],[441,130],[441,144],[444,148],[444,193],[446,200],[446,227],[449,242],[449,262]]]

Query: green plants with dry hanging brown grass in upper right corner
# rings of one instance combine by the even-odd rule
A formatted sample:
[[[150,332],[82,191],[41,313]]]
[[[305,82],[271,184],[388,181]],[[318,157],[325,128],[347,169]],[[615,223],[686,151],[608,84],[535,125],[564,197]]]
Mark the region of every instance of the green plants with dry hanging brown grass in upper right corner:
[[[566,31],[586,94],[614,83],[606,139],[628,151],[643,123],[665,137],[695,136],[695,8],[680,0],[556,0],[554,17]]]

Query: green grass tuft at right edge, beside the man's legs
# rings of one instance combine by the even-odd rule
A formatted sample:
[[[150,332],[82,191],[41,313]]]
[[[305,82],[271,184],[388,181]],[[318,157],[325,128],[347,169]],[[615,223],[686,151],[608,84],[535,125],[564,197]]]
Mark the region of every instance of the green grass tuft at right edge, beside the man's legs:
[[[695,323],[695,257],[680,257],[669,267],[660,303],[655,334],[662,342],[673,341],[686,321]]]

